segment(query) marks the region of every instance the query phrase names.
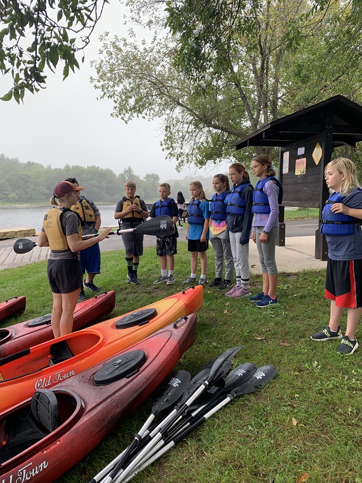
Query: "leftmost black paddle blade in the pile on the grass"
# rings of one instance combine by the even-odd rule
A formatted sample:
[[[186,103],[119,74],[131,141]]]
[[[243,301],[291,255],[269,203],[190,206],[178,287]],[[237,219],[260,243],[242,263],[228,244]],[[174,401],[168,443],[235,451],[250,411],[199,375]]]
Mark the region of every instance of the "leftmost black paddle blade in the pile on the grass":
[[[188,371],[176,371],[168,374],[156,389],[152,413],[156,415],[174,404],[184,394],[190,379],[191,374]]]

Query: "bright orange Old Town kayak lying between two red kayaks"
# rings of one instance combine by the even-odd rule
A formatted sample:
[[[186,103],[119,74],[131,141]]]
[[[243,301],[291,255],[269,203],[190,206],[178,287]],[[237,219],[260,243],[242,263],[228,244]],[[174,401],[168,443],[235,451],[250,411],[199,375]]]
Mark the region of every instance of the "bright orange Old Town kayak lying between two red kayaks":
[[[0,359],[0,412],[196,312],[202,300],[203,287],[190,287],[129,314]]]

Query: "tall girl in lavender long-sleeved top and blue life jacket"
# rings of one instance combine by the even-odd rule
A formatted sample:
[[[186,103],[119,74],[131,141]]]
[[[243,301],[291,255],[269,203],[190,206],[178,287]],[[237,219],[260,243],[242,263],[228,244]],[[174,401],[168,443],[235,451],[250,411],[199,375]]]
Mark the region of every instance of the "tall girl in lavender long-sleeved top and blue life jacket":
[[[278,268],[275,260],[276,239],[279,233],[279,205],[283,201],[283,187],[275,177],[272,160],[266,154],[254,157],[252,169],[259,178],[253,193],[254,213],[252,240],[256,243],[261,265],[262,291],[249,297],[259,308],[276,305]]]

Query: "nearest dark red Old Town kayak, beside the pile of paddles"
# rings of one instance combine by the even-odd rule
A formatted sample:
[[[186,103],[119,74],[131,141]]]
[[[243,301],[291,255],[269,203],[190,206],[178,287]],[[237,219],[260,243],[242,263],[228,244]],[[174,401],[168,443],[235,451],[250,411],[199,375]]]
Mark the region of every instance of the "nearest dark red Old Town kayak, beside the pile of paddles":
[[[197,336],[195,314],[0,414],[0,481],[52,483],[134,411]]]

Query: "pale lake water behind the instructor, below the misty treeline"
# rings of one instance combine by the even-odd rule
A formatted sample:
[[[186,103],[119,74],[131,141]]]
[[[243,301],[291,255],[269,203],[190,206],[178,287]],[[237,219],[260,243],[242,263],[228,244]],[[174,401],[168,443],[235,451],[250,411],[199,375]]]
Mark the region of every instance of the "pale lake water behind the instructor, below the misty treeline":
[[[0,228],[30,227],[39,231],[43,226],[44,214],[50,205],[44,206],[0,206]],[[114,219],[116,204],[98,205],[102,226],[117,226]]]

